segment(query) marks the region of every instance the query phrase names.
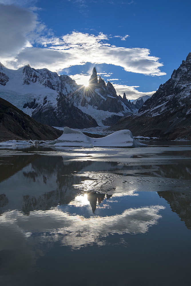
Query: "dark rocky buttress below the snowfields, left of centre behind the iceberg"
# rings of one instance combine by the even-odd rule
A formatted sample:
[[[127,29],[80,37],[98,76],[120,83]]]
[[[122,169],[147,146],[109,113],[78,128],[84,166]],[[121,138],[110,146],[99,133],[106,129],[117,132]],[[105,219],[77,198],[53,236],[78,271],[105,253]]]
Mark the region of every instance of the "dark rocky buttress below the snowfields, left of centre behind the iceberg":
[[[69,128],[88,128],[98,126],[97,122],[88,114],[75,107],[63,94],[59,94],[57,106],[44,100],[32,114],[32,118],[50,126]]]

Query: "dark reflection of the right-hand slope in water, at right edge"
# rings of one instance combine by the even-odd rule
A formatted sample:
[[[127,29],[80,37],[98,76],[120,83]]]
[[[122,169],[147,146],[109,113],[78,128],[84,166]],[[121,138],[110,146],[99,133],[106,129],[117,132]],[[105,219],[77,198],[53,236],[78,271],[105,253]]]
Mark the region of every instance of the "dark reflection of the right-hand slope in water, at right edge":
[[[191,229],[191,192],[158,192],[159,196],[164,198],[173,212],[176,212],[181,221],[184,221],[186,227]]]

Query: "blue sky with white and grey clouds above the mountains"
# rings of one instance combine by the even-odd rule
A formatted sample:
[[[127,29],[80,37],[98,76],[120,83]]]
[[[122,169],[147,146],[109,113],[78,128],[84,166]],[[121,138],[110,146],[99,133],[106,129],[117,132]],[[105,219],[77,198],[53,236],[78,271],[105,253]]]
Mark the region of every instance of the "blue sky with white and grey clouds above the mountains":
[[[0,0],[0,61],[87,82],[95,66],[128,99],[151,95],[191,51],[191,1]]]

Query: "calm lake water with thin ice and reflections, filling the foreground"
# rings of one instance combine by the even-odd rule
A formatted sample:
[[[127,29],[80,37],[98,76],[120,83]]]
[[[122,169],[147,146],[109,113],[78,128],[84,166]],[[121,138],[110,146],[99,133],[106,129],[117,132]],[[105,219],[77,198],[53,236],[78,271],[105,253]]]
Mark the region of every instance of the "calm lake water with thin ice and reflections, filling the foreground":
[[[190,285],[191,142],[149,144],[1,147],[0,285]]]

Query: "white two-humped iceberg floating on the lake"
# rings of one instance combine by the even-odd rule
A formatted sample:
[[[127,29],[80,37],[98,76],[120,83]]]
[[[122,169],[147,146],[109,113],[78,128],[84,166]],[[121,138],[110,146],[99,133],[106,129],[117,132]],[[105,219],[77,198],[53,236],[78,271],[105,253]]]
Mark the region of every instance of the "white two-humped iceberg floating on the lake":
[[[90,138],[80,131],[64,127],[63,134],[56,140],[53,146],[76,147],[147,147],[133,138],[130,130],[116,131],[102,138]],[[93,147],[92,146],[92,147]]]

